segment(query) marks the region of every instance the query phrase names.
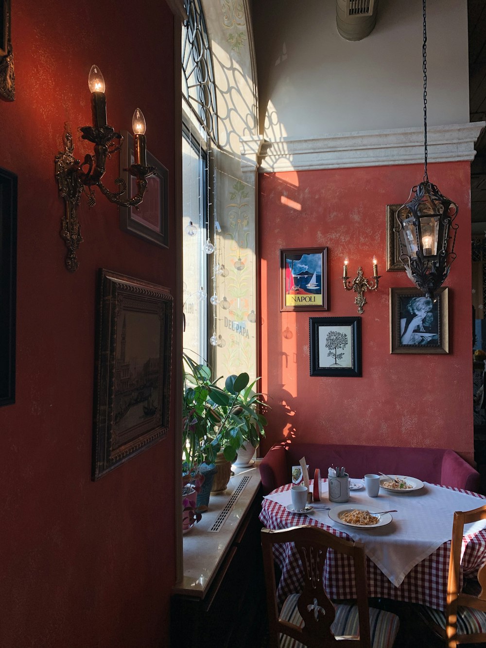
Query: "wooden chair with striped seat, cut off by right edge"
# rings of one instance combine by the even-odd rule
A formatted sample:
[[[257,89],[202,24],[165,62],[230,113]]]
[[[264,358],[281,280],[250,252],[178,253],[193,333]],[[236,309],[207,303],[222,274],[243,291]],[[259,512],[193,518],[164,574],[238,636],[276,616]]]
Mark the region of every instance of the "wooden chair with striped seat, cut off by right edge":
[[[486,564],[478,571],[476,587],[469,583],[459,591],[464,525],[479,520],[486,520],[486,505],[473,511],[454,513],[446,610],[441,612],[421,607],[422,619],[445,640],[448,648],[456,648],[458,643],[486,642]]]

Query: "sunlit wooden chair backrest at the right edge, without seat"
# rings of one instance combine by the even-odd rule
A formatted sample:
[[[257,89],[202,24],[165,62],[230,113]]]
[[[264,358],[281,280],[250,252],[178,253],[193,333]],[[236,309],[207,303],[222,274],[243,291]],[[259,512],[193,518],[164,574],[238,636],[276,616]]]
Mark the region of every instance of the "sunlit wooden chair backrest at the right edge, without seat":
[[[472,511],[456,511],[452,524],[452,541],[450,544],[449,574],[447,579],[446,638],[447,645],[457,645],[457,607],[470,607],[486,612],[486,563],[478,571],[481,592],[477,596],[459,591],[461,583],[461,550],[463,546],[464,525],[470,522],[486,520],[486,505]],[[468,634],[463,641],[471,638],[486,640],[486,633]]]

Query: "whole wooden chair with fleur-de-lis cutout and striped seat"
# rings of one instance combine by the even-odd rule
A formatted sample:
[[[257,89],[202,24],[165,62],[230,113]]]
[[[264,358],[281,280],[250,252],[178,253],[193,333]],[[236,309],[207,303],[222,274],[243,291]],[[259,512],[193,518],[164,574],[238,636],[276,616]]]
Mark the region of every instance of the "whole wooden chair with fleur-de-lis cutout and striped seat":
[[[368,608],[363,544],[338,538],[315,526],[262,529],[270,648],[388,648],[393,645],[399,619],[391,612]],[[277,605],[273,544],[294,542],[301,560],[304,589]],[[353,558],[357,605],[334,605],[323,588],[328,549]],[[371,630],[370,630],[371,628]]]

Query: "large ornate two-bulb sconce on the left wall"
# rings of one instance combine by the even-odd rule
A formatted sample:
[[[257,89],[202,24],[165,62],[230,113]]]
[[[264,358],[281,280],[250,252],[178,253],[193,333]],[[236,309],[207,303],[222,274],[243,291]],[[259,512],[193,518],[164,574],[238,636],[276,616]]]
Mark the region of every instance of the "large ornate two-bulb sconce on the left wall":
[[[97,65],[93,65],[89,71],[88,86],[91,90],[93,126],[82,126],[79,130],[82,132],[81,139],[86,139],[95,145],[95,154],[92,156],[87,154],[84,161],[80,163],[73,155],[75,150],[73,137],[69,131],[66,131],[63,138],[64,151],[60,151],[56,156],[55,176],[59,185],[59,193],[64,198],[66,207],[65,216],[62,218],[61,236],[68,248],[65,264],[70,272],[75,272],[78,268],[76,250],[83,240],[80,223],[76,216],[82,191],[87,193],[87,202],[90,207],[96,204],[94,187],[98,187],[112,203],[121,207],[138,207],[143,200],[147,186],[146,179],[156,171],[155,167],[146,165],[145,118],[142,111],[137,108],[132,119],[134,162],[130,168],[124,169],[136,178],[137,194],[128,200],[121,198],[126,191],[126,183],[122,178],[115,180],[115,184],[120,187],[119,191],[112,192],[104,186],[101,179],[106,171],[106,158],[121,150],[123,137],[107,124],[105,83]],[[85,187],[87,187],[87,191]]]

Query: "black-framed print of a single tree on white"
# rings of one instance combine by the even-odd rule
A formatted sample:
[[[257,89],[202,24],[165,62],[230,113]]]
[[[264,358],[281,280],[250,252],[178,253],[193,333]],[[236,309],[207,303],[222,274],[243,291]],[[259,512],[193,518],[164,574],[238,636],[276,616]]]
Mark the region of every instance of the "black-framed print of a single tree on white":
[[[361,318],[309,318],[310,375],[354,376],[361,369]]]

